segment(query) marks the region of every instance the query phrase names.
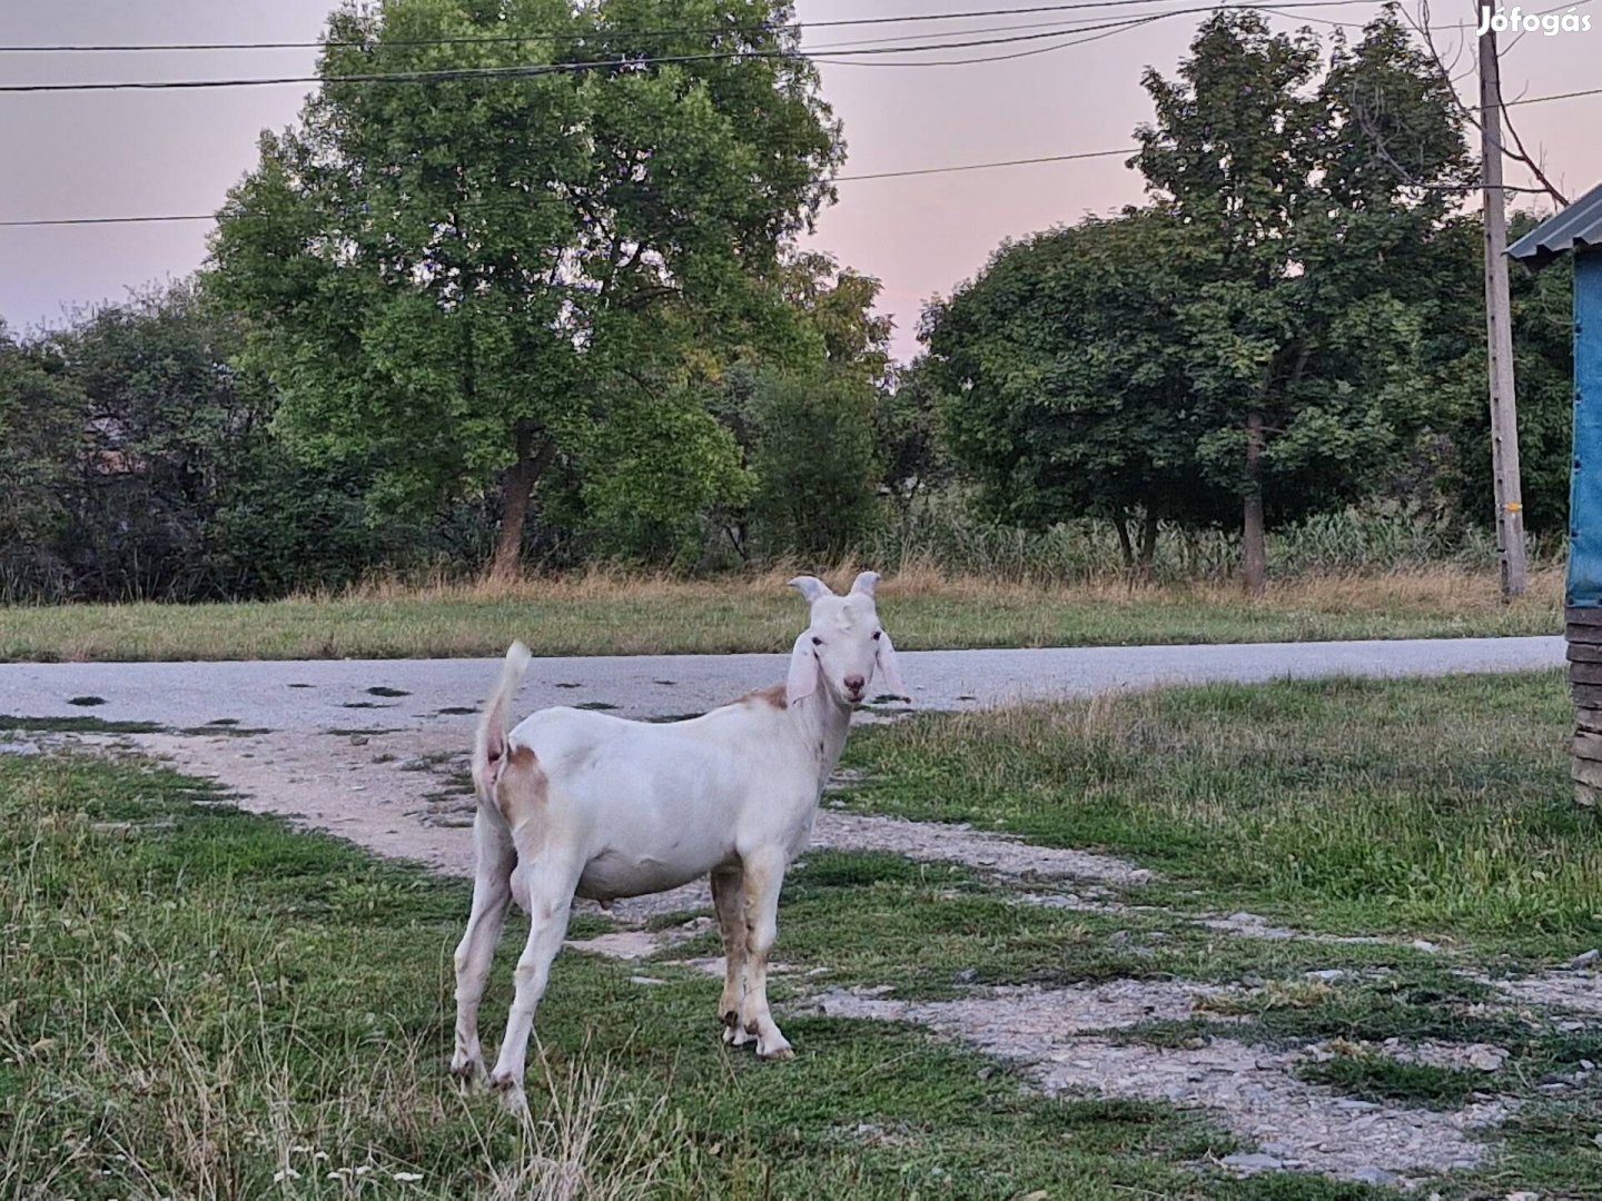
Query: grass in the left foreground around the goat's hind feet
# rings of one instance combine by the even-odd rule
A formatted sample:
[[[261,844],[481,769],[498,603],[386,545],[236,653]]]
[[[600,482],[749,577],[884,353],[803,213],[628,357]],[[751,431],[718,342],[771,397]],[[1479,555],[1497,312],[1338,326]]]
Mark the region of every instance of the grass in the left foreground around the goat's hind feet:
[[[812,871],[803,902],[886,876]],[[458,881],[165,770],[0,759],[0,1198],[567,1196],[564,1172],[585,1196],[1371,1196],[1198,1172],[1234,1148],[1198,1119],[1033,1097],[912,1028],[796,1017],[799,1057],[763,1065],[723,1049],[706,977],[655,966],[668,983],[639,988],[638,967],[574,954],[522,1129],[445,1079],[465,910]],[[787,935],[822,921],[803,905]]]

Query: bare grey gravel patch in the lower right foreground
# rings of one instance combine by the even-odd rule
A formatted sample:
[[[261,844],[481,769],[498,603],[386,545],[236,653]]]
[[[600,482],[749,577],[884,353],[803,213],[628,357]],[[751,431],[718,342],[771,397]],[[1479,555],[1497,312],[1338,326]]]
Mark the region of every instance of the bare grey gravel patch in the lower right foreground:
[[[878,990],[830,991],[811,1002],[838,1017],[916,1022],[1022,1063],[1053,1095],[1081,1091],[1206,1108],[1261,1150],[1230,1156],[1240,1171],[1301,1169],[1368,1183],[1472,1167],[1477,1132],[1506,1119],[1506,1102],[1453,1111],[1342,1097],[1293,1074],[1312,1049],[1274,1052],[1214,1038],[1197,1047],[1123,1044],[1102,1034],[1179,1020],[1197,1001],[1242,990],[1169,982],[1064,988],[996,988],[961,1001],[891,1001]],[[1210,1015],[1218,1020],[1216,1015]]]

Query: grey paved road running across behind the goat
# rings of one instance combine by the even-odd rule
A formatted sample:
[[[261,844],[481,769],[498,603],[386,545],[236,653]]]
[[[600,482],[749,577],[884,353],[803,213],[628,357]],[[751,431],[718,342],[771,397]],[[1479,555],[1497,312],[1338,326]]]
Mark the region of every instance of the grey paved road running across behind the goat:
[[[899,658],[916,708],[966,709],[1152,684],[1527,671],[1559,666],[1564,639],[924,650]],[[785,655],[537,658],[517,713],[580,705],[623,717],[690,716],[782,681],[785,661]],[[426,729],[468,724],[498,669],[498,660],[460,658],[6,663],[0,665],[0,714],[170,727]]]

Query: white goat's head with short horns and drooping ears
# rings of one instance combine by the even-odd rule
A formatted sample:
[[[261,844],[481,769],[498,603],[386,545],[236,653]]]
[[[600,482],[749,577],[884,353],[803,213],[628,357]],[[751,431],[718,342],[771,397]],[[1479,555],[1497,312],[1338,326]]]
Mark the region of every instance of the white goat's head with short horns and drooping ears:
[[[812,607],[812,620],[790,652],[785,700],[795,705],[817,692],[822,682],[836,701],[854,705],[868,695],[875,668],[884,676],[886,692],[912,700],[896,663],[896,647],[873,604],[878,583],[875,572],[863,572],[846,596],[836,596],[812,575],[790,581]]]

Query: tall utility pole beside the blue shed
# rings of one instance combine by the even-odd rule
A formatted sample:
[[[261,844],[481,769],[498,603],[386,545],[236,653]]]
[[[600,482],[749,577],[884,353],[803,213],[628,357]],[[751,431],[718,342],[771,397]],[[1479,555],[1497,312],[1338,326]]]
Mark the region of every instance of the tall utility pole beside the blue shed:
[[[1479,0],[1475,0],[1479,16]],[[1491,479],[1503,600],[1524,596],[1524,492],[1519,485],[1519,405],[1512,378],[1507,299],[1507,211],[1503,192],[1501,72],[1496,32],[1480,34],[1480,171],[1485,186],[1485,333],[1490,349]]]

